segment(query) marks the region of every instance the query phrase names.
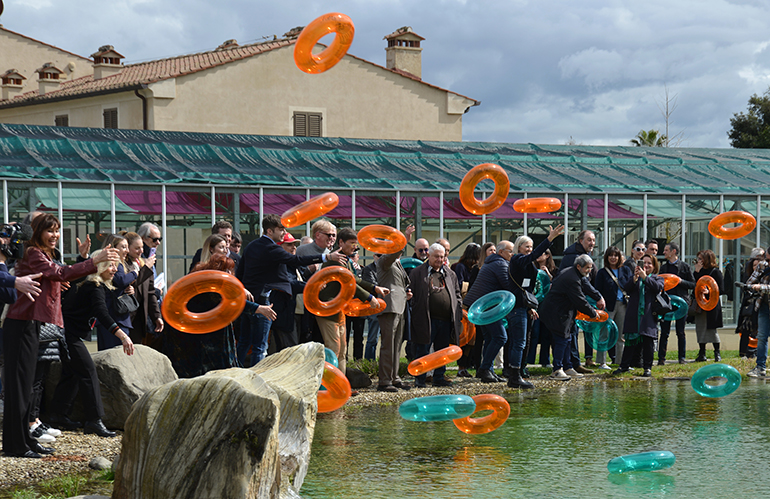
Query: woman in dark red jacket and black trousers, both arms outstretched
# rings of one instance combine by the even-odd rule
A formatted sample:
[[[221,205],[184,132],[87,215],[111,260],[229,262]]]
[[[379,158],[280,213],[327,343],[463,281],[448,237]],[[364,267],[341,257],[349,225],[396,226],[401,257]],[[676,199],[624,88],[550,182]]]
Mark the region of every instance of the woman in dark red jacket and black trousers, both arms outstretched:
[[[61,313],[61,283],[96,272],[96,264],[117,261],[114,249],[76,265],[59,266],[53,261],[61,224],[53,215],[39,215],[32,221],[33,234],[24,258],[16,264],[16,275],[42,273],[40,296],[31,300],[19,296],[8,310],[3,327],[5,350],[5,409],[3,413],[3,451],[6,456],[39,458],[54,449],[43,447],[29,434],[32,382],[35,377],[40,324],[64,327]]]

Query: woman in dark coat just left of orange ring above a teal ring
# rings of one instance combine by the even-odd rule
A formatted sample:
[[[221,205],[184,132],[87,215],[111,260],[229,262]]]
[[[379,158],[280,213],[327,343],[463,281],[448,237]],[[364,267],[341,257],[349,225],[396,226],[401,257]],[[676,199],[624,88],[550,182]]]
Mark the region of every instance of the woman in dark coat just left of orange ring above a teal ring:
[[[620,368],[613,374],[621,374],[631,370],[631,362],[639,357],[642,351],[642,376],[652,376],[652,362],[655,356],[655,340],[658,338],[658,318],[652,313],[652,302],[663,291],[663,278],[655,275],[659,264],[655,257],[644,255],[643,267],[637,266],[634,276],[629,279],[624,288],[628,294],[628,308],[623,332],[626,336],[626,348]]]

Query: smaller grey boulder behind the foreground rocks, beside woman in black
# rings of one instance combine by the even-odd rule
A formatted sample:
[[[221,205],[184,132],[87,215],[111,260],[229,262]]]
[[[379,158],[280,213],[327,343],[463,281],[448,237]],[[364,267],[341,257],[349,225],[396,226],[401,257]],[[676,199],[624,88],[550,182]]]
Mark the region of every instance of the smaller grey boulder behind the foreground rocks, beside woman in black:
[[[123,429],[134,402],[146,392],[178,379],[168,357],[144,345],[134,345],[134,355],[121,347],[91,355],[99,376],[104,424]]]

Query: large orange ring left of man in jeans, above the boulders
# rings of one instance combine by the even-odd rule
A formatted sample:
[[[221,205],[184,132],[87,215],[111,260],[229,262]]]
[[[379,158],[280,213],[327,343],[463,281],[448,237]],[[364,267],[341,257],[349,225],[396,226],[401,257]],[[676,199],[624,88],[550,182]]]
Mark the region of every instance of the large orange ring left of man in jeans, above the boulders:
[[[219,293],[222,301],[208,312],[193,313],[187,302],[202,293]],[[176,281],[166,293],[163,319],[183,333],[205,334],[226,327],[246,306],[246,290],[234,275],[219,270],[201,270]]]

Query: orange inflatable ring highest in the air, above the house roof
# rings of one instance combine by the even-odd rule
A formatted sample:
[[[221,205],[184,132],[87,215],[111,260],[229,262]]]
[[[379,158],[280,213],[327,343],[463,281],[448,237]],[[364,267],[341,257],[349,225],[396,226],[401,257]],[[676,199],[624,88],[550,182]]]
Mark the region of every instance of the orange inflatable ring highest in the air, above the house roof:
[[[294,63],[305,73],[323,73],[334,67],[347,54],[355,34],[353,21],[345,14],[330,12],[305,26],[294,44]],[[334,41],[320,54],[313,48],[324,36],[336,33]]]

